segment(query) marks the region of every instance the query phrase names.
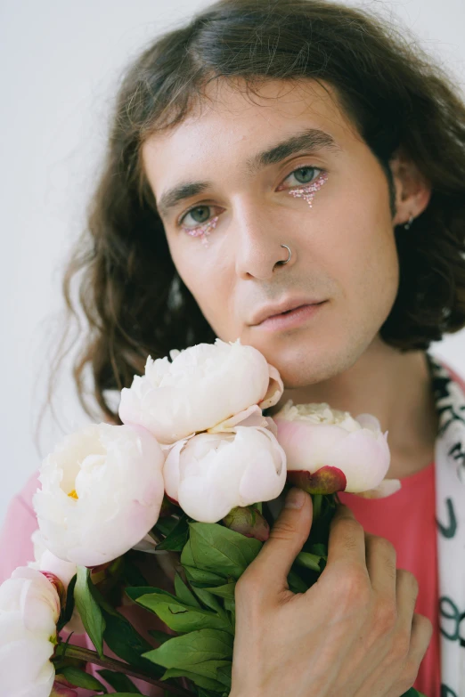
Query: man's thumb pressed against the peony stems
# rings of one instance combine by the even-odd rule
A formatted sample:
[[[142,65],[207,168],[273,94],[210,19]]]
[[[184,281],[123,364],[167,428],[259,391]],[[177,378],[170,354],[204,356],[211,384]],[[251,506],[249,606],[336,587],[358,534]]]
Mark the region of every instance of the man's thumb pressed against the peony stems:
[[[313,503],[306,491],[292,487],[280,515],[248,569],[259,581],[262,593],[276,594],[289,588],[287,577],[312,527]],[[244,571],[244,574],[248,570]],[[242,575],[244,575],[242,574]]]

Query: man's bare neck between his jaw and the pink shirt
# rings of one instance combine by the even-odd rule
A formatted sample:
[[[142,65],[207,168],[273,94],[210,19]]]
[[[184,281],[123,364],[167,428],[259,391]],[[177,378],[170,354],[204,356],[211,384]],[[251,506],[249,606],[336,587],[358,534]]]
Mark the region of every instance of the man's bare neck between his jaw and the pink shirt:
[[[437,414],[424,351],[401,353],[375,340],[349,369],[314,385],[286,388],[268,413],[288,400],[306,404],[325,401],[353,417],[369,413],[379,419],[391,463],[387,478],[418,472],[434,459]]]

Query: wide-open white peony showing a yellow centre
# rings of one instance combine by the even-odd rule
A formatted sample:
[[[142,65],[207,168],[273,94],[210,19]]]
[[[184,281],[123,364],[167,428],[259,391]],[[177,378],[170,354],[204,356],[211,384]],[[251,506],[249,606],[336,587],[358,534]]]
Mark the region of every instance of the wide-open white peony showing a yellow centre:
[[[42,463],[33,504],[45,546],[96,566],[134,547],[159,519],[164,455],[145,429],[91,424]]]

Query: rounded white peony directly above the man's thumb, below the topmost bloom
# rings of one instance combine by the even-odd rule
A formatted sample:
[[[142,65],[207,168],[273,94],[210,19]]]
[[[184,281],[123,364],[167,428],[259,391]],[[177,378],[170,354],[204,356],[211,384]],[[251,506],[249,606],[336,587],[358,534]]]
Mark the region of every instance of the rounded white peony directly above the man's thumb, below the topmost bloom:
[[[176,442],[163,468],[167,496],[201,523],[217,523],[236,506],[280,495],[286,456],[263,427],[236,426],[228,434],[197,434]]]

